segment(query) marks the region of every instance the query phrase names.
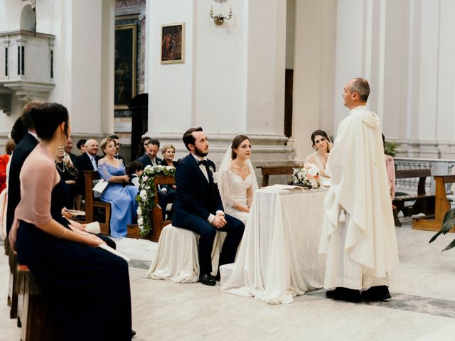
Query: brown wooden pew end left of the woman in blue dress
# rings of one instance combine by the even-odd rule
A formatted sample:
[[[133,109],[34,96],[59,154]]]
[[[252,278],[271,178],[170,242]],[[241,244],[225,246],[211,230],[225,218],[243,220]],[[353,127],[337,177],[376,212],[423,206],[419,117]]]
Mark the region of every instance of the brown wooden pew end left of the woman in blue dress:
[[[85,222],[93,222],[94,208],[101,208],[105,210],[105,221],[100,222],[100,229],[102,234],[109,235],[109,221],[111,219],[111,204],[109,202],[101,201],[100,198],[95,198],[93,193],[93,181],[99,180],[100,175],[97,171],[84,171],[85,177]]]

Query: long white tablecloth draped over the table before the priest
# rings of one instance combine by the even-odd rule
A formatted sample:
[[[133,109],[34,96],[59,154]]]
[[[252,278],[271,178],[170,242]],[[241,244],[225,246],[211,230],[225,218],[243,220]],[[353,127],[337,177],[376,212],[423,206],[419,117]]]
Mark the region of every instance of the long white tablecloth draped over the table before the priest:
[[[235,264],[221,266],[221,290],[267,303],[323,287],[318,254],[326,189],[257,190]]]

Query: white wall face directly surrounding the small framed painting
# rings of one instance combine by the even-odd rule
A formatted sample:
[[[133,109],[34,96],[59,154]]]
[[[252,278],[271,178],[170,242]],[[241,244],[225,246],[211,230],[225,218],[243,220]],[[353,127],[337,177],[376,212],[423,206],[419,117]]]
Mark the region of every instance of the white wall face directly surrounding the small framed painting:
[[[149,132],[184,131],[193,124],[193,1],[149,1]],[[185,23],[185,63],[161,60],[161,25]]]

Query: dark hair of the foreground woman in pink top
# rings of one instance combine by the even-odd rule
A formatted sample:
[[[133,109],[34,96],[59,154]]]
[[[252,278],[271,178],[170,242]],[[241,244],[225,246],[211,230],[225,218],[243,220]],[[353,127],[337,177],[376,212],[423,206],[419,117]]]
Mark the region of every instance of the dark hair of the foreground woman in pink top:
[[[68,110],[58,103],[44,103],[31,110],[36,135],[43,141],[50,141],[60,124],[65,123],[65,136],[68,139]]]

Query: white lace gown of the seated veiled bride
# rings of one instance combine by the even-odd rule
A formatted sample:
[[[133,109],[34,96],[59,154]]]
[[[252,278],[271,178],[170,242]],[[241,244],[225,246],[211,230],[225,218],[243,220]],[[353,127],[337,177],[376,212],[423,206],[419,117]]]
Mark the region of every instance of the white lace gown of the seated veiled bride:
[[[247,222],[248,213],[236,210],[235,205],[249,207],[252,197],[247,195],[248,188],[252,185],[252,175],[248,174],[245,180],[240,175],[233,173],[230,169],[223,171],[223,185],[220,186],[220,195],[223,200],[225,213],[241,220],[244,224]],[[252,193],[252,191],[250,191]]]

